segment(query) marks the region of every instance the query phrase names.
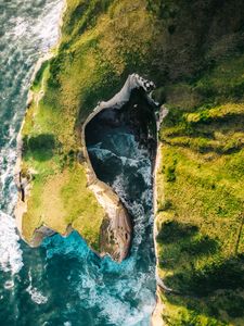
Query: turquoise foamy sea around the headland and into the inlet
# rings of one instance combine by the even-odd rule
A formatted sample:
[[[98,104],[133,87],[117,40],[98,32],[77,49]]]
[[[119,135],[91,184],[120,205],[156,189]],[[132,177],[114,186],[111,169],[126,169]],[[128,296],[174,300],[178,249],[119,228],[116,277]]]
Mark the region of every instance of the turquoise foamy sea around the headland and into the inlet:
[[[91,149],[104,166],[111,158],[117,162],[107,181],[134,218],[129,259],[101,260],[77,233],[30,249],[15,229],[15,139],[35,62],[57,39],[61,9],[55,0],[0,0],[0,325],[150,325],[155,304],[151,162],[129,130],[107,129],[102,146]]]

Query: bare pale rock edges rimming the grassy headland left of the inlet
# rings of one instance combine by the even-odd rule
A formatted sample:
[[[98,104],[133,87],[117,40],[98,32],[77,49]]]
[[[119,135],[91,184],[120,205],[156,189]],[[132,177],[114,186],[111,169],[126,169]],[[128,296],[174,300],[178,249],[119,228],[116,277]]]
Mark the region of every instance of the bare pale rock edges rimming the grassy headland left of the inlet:
[[[49,60],[50,58],[51,57],[49,54],[44,59]],[[44,59],[38,62],[38,68],[41,67],[41,64],[44,62]],[[35,73],[38,72],[38,68],[35,70]],[[113,189],[108,185],[97,178],[87,151],[85,130],[86,126],[94,116],[97,116],[97,114],[106,109],[119,110],[123,105],[125,105],[125,103],[129,101],[131,91],[133,89],[139,88],[143,89],[146,97],[149,98],[149,101],[152,101],[149,93],[154,88],[154,84],[152,82],[143,79],[138,74],[132,74],[127,78],[124,87],[118,93],[116,93],[111,100],[106,102],[100,102],[98,106],[89,114],[89,116],[82,125],[81,131],[82,156],[85,159],[85,162],[82,163],[86,166],[87,186],[95,195],[98,202],[102,205],[107,216],[106,222],[104,223],[105,227],[102,227],[102,250],[101,252],[95,252],[101,256],[110,254],[114,260],[118,262],[121,262],[128,255],[132,239],[132,224],[130,221],[130,216],[118,196],[113,191]],[[38,96],[41,96],[43,90],[41,90]],[[30,90],[27,100],[27,110],[31,102],[37,100],[35,97],[36,95],[33,93]],[[24,124],[25,120],[23,121],[22,126],[24,126]],[[21,166],[23,140],[21,133],[22,128],[17,137],[17,162],[15,167],[15,183],[17,185],[20,196],[15,208],[15,217],[20,235],[25,240],[22,231],[22,218],[23,214],[27,211],[28,196],[31,191],[31,178],[35,176],[35,171],[28,171],[27,173],[25,173],[25,175],[22,172]],[[68,225],[66,231],[63,233],[62,236],[68,236],[73,231],[73,229],[74,228],[70,225]],[[38,227],[35,230],[31,241],[27,242],[30,247],[38,247],[40,246],[43,238],[52,236],[55,233],[57,233],[55,229],[52,229],[44,224],[40,225],[40,227]]]

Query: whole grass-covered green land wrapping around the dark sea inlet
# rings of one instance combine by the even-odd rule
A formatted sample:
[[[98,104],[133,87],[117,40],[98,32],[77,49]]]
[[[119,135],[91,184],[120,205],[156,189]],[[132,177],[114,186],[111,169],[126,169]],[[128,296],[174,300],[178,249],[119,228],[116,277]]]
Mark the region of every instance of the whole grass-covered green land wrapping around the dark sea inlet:
[[[72,227],[102,252],[107,213],[88,187],[82,126],[132,72],[156,84],[169,109],[155,204],[168,325],[243,324],[243,17],[241,0],[68,0],[60,45],[31,86],[18,227],[30,243],[36,229]]]

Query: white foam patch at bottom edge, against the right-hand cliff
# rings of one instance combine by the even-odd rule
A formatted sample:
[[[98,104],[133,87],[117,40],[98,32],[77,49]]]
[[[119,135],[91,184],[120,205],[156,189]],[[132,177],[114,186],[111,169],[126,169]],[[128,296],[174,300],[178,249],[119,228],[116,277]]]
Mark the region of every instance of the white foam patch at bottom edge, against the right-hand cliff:
[[[114,263],[111,263],[114,265]],[[132,269],[127,267],[127,272],[132,273]],[[123,273],[123,271],[121,271]],[[120,274],[121,274],[120,273]],[[81,275],[85,277],[85,275]],[[86,289],[89,289],[88,308],[99,308],[100,317],[105,317],[110,323],[117,326],[136,326],[149,325],[149,317],[152,313],[152,306],[155,303],[153,293],[144,288],[145,275],[131,275],[128,279],[117,279],[114,289],[98,286],[92,276],[86,275],[86,278],[79,285],[78,292],[80,300],[86,300],[88,294]],[[133,299],[139,300],[139,306],[133,308],[125,300],[130,289],[133,288]],[[102,290],[102,300],[101,300]],[[118,296],[114,296],[114,292]],[[146,298],[146,303],[145,303]]]

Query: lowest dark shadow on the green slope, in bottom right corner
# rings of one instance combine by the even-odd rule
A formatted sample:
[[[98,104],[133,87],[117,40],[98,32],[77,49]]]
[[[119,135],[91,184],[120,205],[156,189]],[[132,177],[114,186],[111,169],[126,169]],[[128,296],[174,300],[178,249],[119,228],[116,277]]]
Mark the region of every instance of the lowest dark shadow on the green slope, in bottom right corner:
[[[185,271],[167,276],[166,285],[179,281],[181,284],[181,287],[178,287],[179,294],[165,293],[167,301],[189,310],[188,317],[182,315],[180,325],[202,325],[200,315],[222,322],[218,325],[227,325],[227,316],[222,315],[222,311],[227,312],[230,322],[233,322],[232,318],[243,318],[243,263],[244,255],[240,254],[209,264],[201,271],[192,271],[189,275]],[[213,321],[213,324],[208,325],[217,324]]]

